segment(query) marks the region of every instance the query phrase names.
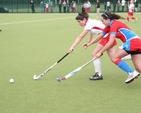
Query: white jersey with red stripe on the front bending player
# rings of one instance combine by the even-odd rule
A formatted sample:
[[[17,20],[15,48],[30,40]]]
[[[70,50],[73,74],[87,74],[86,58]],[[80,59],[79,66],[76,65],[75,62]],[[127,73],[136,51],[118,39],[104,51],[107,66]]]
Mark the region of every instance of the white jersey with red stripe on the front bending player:
[[[104,28],[105,25],[101,21],[89,18],[86,22],[84,30],[89,30],[92,34],[99,34],[102,33]]]

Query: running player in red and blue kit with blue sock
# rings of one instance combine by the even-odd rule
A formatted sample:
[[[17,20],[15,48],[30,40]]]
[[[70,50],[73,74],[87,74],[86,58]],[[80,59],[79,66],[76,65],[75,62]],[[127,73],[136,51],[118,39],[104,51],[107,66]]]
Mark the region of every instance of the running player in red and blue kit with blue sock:
[[[134,78],[137,78],[140,75],[139,72],[141,72],[141,39],[126,24],[117,21],[118,19],[125,18],[111,12],[105,12],[101,15],[102,23],[106,26],[102,34],[105,35],[109,32],[110,39],[95,56],[99,58],[103,52],[107,51],[112,46],[115,38],[119,38],[123,44],[112,55],[111,60],[119,68],[128,73],[128,78],[125,83],[130,83]],[[91,44],[93,44],[93,40],[87,46],[90,46]],[[138,72],[121,60],[122,57],[128,54],[131,54],[133,64]]]

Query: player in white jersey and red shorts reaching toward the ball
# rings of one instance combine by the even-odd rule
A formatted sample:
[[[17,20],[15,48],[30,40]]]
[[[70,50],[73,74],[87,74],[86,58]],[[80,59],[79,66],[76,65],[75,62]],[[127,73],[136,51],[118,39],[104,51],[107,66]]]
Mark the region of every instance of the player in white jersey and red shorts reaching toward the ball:
[[[82,8],[82,12],[78,14],[76,17],[77,22],[79,23],[80,26],[84,27],[84,30],[82,33],[76,38],[70,49],[68,50],[69,53],[71,53],[74,50],[74,47],[81,42],[81,40],[90,32],[90,37],[87,43],[91,42],[92,37],[94,34],[99,35],[102,30],[105,28],[105,25],[102,24],[101,21],[99,20],[92,20],[89,18],[89,15],[85,12],[85,9]],[[109,40],[109,34],[107,34],[105,37],[101,39],[95,50],[92,52],[92,57],[101,49],[103,46],[106,45],[106,43]],[[84,44],[84,45],[85,45]],[[112,56],[113,53],[115,53],[115,48],[114,46],[116,45],[116,41],[113,43],[113,46],[107,50],[107,53],[109,56]],[[101,71],[101,62],[100,59],[96,59],[93,61],[94,68],[95,68],[95,74],[90,77],[90,80],[102,80],[102,71]]]

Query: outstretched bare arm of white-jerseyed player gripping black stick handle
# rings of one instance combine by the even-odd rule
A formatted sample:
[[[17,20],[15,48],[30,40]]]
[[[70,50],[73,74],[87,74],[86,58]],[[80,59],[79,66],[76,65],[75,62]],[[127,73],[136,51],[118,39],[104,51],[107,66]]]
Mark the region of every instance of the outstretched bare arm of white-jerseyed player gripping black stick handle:
[[[88,30],[84,30],[77,38],[76,40],[73,42],[72,46],[70,47],[70,49],[68,50],[69,53],[71,53],[74,49],[75,46],[77,46],[81,40],[85,37],[85,35],[88,33]]]

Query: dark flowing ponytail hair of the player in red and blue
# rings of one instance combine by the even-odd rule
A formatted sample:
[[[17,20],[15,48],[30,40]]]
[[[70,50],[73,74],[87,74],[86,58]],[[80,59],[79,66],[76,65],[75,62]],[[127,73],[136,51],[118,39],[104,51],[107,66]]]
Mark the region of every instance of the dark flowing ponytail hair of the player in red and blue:
[[[110,19],[110,20],[113,20],[113,19],[116,19],[116,20],[118,20],[118,19],[124,19],[124,20],[125,20],[124,17],[121,17],[120,15],[115,14],[115,13],[112,13],[112,12],[109,12],[109,11],[103,13],[101,16],[102,16],[105,20],[107,20],[107,19]]]

